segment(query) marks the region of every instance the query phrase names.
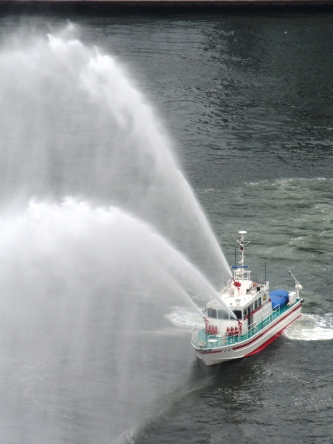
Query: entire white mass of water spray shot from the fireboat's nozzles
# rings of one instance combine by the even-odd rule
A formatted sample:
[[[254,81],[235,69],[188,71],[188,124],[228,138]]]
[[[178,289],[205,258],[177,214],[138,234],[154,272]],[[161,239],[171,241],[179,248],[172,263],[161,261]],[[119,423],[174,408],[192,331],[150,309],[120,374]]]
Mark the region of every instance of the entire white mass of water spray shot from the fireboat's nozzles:
[[[117,59],[69,26],[20,31],[0,65],[1,438],[115,442],[186,385],[171,307],[216,297],[204,262],[230,270]]]

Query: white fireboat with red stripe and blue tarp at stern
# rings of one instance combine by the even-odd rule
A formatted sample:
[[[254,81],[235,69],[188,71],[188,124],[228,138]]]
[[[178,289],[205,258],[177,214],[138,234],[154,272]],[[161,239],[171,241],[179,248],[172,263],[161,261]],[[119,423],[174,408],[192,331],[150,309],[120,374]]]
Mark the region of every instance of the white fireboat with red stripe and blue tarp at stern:
[[[255,355],[282,334],[301,314],[302,286],[291,271],[295,291],[269,291],[269,282],[253,281],[244,265],[246,231],[239,231],[240,260],[232,278],[203,309],[203,323],[192,328],[191,344],[206,366]]]

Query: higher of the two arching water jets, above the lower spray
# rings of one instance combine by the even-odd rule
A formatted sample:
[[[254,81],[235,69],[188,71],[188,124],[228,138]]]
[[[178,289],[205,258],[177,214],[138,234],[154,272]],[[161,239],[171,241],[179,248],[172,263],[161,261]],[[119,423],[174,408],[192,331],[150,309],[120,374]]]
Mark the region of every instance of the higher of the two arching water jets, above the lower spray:
[[[0,54],[3,200],[74,195],[121,206],[197,264],[230,273],[144,96],[117,60],[72,34],[27,37]]]

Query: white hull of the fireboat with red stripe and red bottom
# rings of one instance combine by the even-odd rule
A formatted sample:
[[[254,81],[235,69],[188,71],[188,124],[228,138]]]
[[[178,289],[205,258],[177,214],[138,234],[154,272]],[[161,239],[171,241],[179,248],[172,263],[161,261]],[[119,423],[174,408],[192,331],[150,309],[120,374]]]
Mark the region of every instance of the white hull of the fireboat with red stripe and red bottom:
[[[196,350],[199,359],[202,359],[206,366],[221,364],[223,361],[239,359],[263,350],[280,336],[285,328],[295,321],[301,313],[302,301],[298,301],[293,307],[285,311],[284,314],[269,323],[262,330],[250,336],[250,338],[234,343],[212,348],[211,350]]]

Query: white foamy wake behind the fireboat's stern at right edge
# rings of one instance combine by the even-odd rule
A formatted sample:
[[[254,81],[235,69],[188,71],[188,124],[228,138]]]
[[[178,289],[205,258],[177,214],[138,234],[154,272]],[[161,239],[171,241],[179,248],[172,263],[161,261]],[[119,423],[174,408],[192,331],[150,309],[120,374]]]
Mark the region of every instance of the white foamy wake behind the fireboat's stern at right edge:
[[[284,335],[295,341],[330,341],[333,339],[333,314],[302,314],[284,331]]]

